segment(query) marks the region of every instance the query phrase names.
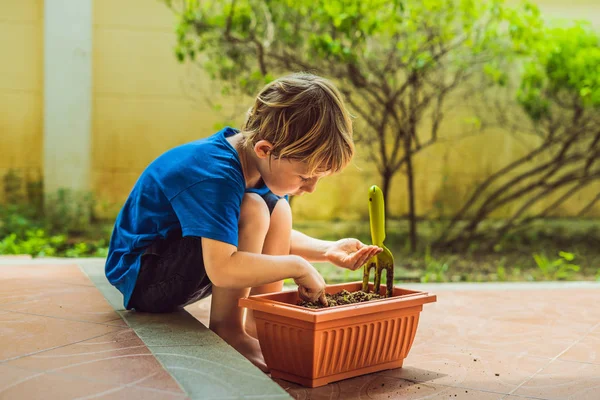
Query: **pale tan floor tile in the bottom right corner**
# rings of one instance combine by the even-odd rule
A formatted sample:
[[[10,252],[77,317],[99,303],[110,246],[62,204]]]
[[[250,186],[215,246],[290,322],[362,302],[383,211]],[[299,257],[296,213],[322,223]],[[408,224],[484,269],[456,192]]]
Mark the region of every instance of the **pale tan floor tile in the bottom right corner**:
[[[513,394],[544,399],[598,400],[600,365],[555,360]]]

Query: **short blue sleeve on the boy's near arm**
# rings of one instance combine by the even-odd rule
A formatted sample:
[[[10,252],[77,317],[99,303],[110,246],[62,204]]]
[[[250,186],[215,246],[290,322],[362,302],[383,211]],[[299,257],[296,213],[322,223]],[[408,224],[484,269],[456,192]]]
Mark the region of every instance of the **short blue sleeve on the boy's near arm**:
[[[198,182],[171,199],[183,236],[197,236],[238,245],[242,194],[218,179]]]

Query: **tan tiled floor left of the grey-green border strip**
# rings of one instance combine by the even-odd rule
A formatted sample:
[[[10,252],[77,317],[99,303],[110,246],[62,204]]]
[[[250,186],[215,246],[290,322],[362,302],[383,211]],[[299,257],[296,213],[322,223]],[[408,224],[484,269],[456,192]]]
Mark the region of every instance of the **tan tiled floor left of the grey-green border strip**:
[[[0,265],[0,398],[184,398],[77,265]]]

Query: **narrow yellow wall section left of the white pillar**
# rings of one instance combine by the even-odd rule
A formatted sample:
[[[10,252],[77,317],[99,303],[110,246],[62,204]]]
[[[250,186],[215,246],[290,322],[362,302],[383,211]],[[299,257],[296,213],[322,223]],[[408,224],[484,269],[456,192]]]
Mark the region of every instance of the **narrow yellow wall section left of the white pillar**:
[[[42,168],[42,29],[42,0],[0,4],[0,177]]]

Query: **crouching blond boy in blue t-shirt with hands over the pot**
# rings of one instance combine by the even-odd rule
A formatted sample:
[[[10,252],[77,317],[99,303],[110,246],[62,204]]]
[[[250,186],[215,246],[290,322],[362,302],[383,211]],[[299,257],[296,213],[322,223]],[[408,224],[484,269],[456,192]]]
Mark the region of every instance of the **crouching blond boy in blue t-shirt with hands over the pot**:
[[[355,270],[381,251],[292,230],[287,195],[313,192],[354,154],[352,121],[326,79],[294,74],[268,84],[241,131],[171,149],[142,173],[117,217],[106,276],[127,309],[170,312],[212,294],[210,329],[266,371],[254,319],[238,299],[281,291],[326,302],[309,261]],[[254,336],[254,337],[252,337]]]

